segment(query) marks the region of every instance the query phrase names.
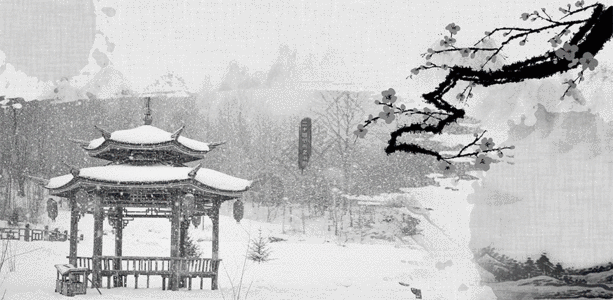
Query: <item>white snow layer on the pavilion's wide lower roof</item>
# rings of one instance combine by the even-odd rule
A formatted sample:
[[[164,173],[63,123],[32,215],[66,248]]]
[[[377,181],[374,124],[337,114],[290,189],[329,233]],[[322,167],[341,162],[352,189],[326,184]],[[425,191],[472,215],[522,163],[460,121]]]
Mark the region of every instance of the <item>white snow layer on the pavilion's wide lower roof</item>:
[[[172,167],[166,165],[133,166],[109,165],[101,167],[84,168],[80,170],[79,177],[111,181],[111,182],[165,182],[189,179],[190,167]],[[49,180],[47,188],[59,188],[66,185],[73,176],[63,175]],[[250,180],[233,177],[218,171],[201,168],[194,178],[196,181],[220,190],[244,191],[251,186]]]

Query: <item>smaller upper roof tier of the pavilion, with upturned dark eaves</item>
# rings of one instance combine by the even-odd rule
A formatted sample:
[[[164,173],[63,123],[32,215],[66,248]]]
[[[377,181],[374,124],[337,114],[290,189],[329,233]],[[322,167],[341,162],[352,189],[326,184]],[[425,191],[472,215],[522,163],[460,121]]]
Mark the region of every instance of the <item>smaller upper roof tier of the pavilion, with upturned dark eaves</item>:
[[[117,161],[134,159],[134,153],[150,154],[162,161],[179,163],[202,159],[204,155],[222,143],[203,143],[181,136],[183,127],[170,133],[151,125],[108,133],[101,129],[103,137],[80,142],[92,157]]]

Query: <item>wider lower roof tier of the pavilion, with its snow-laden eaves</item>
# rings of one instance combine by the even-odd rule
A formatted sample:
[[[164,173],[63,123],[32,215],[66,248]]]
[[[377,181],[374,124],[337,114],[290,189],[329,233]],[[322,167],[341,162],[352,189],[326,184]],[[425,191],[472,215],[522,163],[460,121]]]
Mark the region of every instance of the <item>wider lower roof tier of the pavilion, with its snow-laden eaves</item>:
[[[218,171],[168,165],[107,165],[83,168],[51,178],[45,186],[52,195],[66,195],[81,187],[112,189],[195,189],[200,193],[237,197],[252,181]]]

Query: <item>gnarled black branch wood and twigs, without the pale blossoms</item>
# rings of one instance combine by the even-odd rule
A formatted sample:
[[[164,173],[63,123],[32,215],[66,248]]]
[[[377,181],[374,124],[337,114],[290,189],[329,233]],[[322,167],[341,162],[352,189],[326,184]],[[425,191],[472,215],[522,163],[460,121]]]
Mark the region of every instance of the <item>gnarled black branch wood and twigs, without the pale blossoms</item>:
[[[594,12],[590,16],[590,18],[581,21],[571,21],[571,22],[558,22],[549,26],[545,26],[539,29],[523,29],[523,28],[497,28],[493,32],[489,33],[487,36],[492,35],[496,31],[502,30],[515,30],[515,31],[523,31],[519,35],[510,37],[507,41],[501,45],[501,47],[490,56],[493,57],[502,47],[504,47],[510,40],[513,40],[519,36],[525,36],[530,33],[540,32],[542,30],[555,28],[559,26],[567,26],[565,30],[568,30],[569,26],[584,23],[583,26],[579,28],[577,33],[571,38],[569,44],[577,45],[578,51],[576,52],[576,57],[582,57],[582,55],[586,52],[591,53],[596,56],[596,54],[603,48],[604,44],[611,39],[613,26],[613,8],[608,7],[604,10],[604,6],[602,4],[595,4],[580,10],[569,13],[568,15],[577,13],[579,11],[584,11],[588,8],[594,8]],[[567,16],[568,16],[567,15]],[[564,31],[563,31],[564,32]],[[486,37],[487,37],[486,36]],[[483,40],[483,39],[482,39]],[[479,42],[481,42],[480,40]],[[490,49],[486,49],[490,50]],[[449,50],[452,51],[452,50]],[[454,49],[453,51],[457,51]],[[443,52],[443,51],[441,51]],[[488,60],[489,60],[488,59]],[[433,64],[429,64],[432,66]],[[422,68],[426,69],[426,67]],[[497,84],[505,84],[505,83],[517,83],[522,82],[526,79],[542,79],[547,78],[552,75],[566,72],[572,69],[569,66],[568,61],[565,59],[560,59],[556,56],[554,51],[547,51],[546,53],[535,56],[530,59],[526,59],[524,61],[516,62],[513,64],[509,64],[503,66],[498,70],[484,70],[479,69],[475,70],[470,67],[464,66],[453,66],[449,68],[449,73],[439,84],[439,86],[434,89],[432,92],[423,94],[422,97],[424,101],[428,104],[434,105],[440,111],[446,112],[448,115],[443,119],[440,119],[437,124],[410,124],[402,126],[390,134],[390,139],[388,141],[388,146],[385,148],[385,152],[387,154],[391,154],[394,152],[407,152],[411,154],[426,154],[430,156],[434,156],[437,159],[449,159],[449,157],[443,157],[441,154],[434,150],[423,148],[417,144],[412,143],[399,143],[398,138],[403,134],[418,134],[424,132],[430,132],[433,134],[440,134],[443,132],[444,128],[450,123],[457,122],[458,119],[461,119],[465,116],[465,111],[463,109],[457,108],[451,105],[449,102],[443,99],[453,87],[459,81],[467,81],[472,82],[474,84],[478,84],[484,87],[497,85]],[[395,114],[405,113],[409,110],[398,109],[394,110]],[[367,120],[364,124],[364,127],[368,126],[370,123],[375,122],[379,117],[371,118]],[[474,144],[473,144],[474,145]],[[492,149],[488,151],[499,151],[501,149],[510,149],[499,148]],[[463,152],[463,149],[461,152]],[[454,157],[464,157],[469,155],[475,155],[475,153],[470,154],[462,154],[459,153]],[[483,151],[486,152],[486,151]]]

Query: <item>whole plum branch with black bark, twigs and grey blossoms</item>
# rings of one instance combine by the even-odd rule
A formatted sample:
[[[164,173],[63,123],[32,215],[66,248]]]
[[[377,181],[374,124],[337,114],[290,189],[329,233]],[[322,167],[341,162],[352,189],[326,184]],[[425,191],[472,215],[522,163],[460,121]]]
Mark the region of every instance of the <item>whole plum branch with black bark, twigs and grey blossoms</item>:
[[[579,1],[582,2],[582,1]],[[582,5],[582,3],[576,4],[578,7]],[[580,4],[580,5],[579,5]],[[572,46],[576,46],[576,49],[563,49],[563,51],[547,51],[541,55],[519,61],[516,63],[512,63],[509,65],[504,65],[500,69],[497,70],[484,70],[483,67],[480,69],[473,69],[470,67],[464,66],[438,66],[431,62],[426,63],[425,66],[420,66],[411,70],[411,73],[417,75],[420,70],[426,70],[431,68],[442,68],[448,70],[448,74],[444,78],[444,80],[436,87],[432,92],[423,94],[422,97],[427,104],[431,104],[436,109],[438,109],[439,116],[441,118],[437,119],[435,124],[427,124],[425,121],[421,123],[412,123],[409,125],[402,126],[390,134],[390,139],[388,141],[388,145],[385,148],[385,152],[387,154],[391,154],[394,152],[407,152],[411,154],[425,154],[436,157],[438,160],[447,161],[452,158],[466,157],[466,156],[477,156],[476,164],[479,165],[487,165],[488,160],[484,157],[484,153],[499,151],[499,155],[502,154],[500,150],[504,149],[512,149],[511,147],[503,147],[503,148],[492,148],[485,149],[480,152],[470,152],[464,153],[468,147],[471,145],[476,145],[476,141],[473,141],[468,147],[463,148],[460,153],[454,156],[446,156],[443,157],[437,151],[433,151],[431,149],[426,149],[420,145],[414,143],[399,143],[398,138],[405,133],[414,134],[414,133],[442,133],[444,128],[453,122],[457,122],[458,119],[461,119],[465,116],[465,111],[460,109],[449,102],[447,102],[443,97],[453,88],[459,81],[467,81],[470,82],[471,85],[480,85],[483,87],[487,87],[490,85],[499,85],[505,83],[514,83],[521,82],[526,79],[541,79],[552,76],[554,74],[562,73],[570,70],[575,67],[579,63],[583,67],[583,70],[589,68],[593,70],[594,67],[598,64],[598,61],[594,59],[594,55],[596,55],[604,46],[606,42],[608,42],[612,37],[612,15],[613,9],[612,7],[607,7],[605,9],[602,4],[595,4],[588,7],[584,7],[575,11],[568,11],[566,16],[575,14],[579,11],[587,10],[588,8],[593,8],[593,12],[591,16],[584,20],[576,20],[576,21],[567,21],[567,22],[555,22],[548,26],[543,26],[537,29],[526,29],[526,28],[515,28],[515,27],[501,27],[496,28],[492,32],[486,32],[486,36],[479,40],[475,44],[479,44],[485,38],[491,36],[495,32],[498,31],[508,31],[504,36],[511,34],[513,31],[519,32],[518,34],[512,35],[499,48],[493,50],[492,48],[457,48],[454,46],[455,39],[453,36],[457,34],[459,31],[459,26],[454,23],[449,24],[447,26],[447,30],[450,31],[451,35],[446,36],[444,40],[441,40],[441,45],[448,47],[450,49],[445,49],[441,51],[434,51],[428,49],[429,54],[427,54],[426,59],[429,59],[433,54],[442,53],[442,52],[451,52],[451,51],[460,51],[463,56],[467,56],[468,53],[473,52],[471,57],[474,56],[474,53],[477,51],[494,51],[492,55],[489,56],[488,61],[495,59],[495,57],[502,48],[504,48],[510,41],[519,39],[523,37],[523,40],[520,42],[525,44],[526,38],[528,35],[533,33],[538,33],[544,30],[553,29],[557,27],[564,27],[561,33],[557,34],[552,40],[549,42],[552,43],[552,46],[557,46],[561,44],[561,36],[562,34],[567,35],[569,33],[569,28],[574,25],[580,25],[580,28],[575,32],[568,44]],[[538,12],[537,12],[538,13]],[[550,16],[546,14],[548,18]],[[565,16],[565,17],[566,17]],[[522,19],[527,19],[528,16],[522,15]],[[569,54],[568,51],[571,51],[573,55]],[[572,58],[569,61],[567,58]],[[581,58],[579,58],[581,57]],[[582,71],[583,72],[583,71]],[[580,79],[579,79],[580,80]],[[575,80],[576,81],[576,80]],[[573,83],[575,82],[573,81]],[[467,87],[467,89],[472,88],[472,86]],[[569,84],[569,88],[572,88]],[[463,95],[467,89],[464,90],[461,95]],[[388,90],[392,91],[392,89]],[[384,91],[386,92],[386,91]],[[469,90],[470,95],[470,90]],[[383,95],[384,99],[389,95]],[[395,101],[395,100],[394,100]],[[384,101],[385,102],[385,101]],[[378,104],[378,103],[377,103]],[[393,101],[390,103],[393,104]],[[406,108],[397,109],[394,105],[384,105],[384,111],[379,114],[379,117],[369,118],[369,120],[365,121],[364,124],[358,126],[358,130],[356,134],[358,136],[363,137],[365,134],[365,127],[376,122],[379,118],[386,119],[386,122],[391,123],[390,120],[393,120],[395,114],[410,112],[411,114],[416,114],[415,111],[407,110]],[[444,113],[443,113],[444,112]],[[483,144],[483,143],[482,143]],[[488,167],[489,168],[489,167]]]

